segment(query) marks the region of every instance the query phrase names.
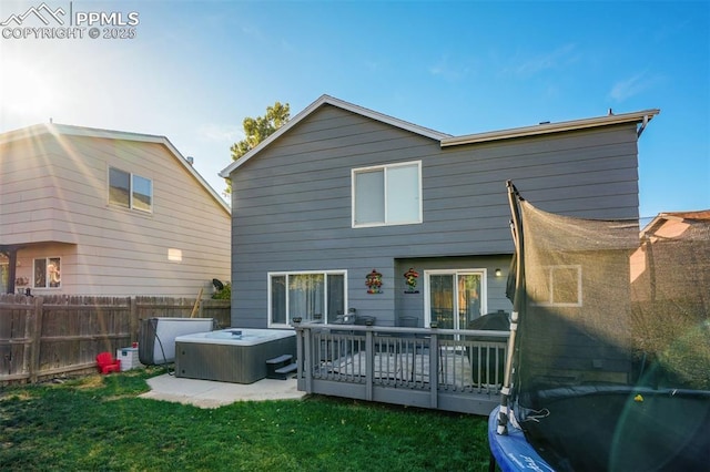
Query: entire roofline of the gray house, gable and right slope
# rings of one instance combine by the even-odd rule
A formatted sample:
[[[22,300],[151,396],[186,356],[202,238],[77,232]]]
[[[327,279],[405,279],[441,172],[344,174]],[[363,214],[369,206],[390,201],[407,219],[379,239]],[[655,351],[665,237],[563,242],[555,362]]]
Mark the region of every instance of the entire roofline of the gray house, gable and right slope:
[[[565,121],[558,123],[540,123],[534,126],[524,126],[509,130],[489,131],[485,133],[466,134],[463,136],[452,136],[450,134],[440,133],[427,127],[418,126],[406,121],[402,121],[373,110],[365,109],[353,103],[345,102],[343,100],[335,99],[329,95],[322,95],[318,100],[306,106],[301,113],[290,120],[285,125],[276,130],[266,140],[262,141],[256,147],[244,154],[239,160],[226,166],[220,176],[229,177],[230,174],[258,154],[264,147],[276,141],[282,134],[286,133],[293,126],[303,121],[306,116],[318,110],[323,105],[333,105],[343,110],[347,110],[353,113],[357,113],[363,116],[371,117],[373,120],[397,126],[399,129],[410,131],[413,133],[439,141],[442,147],[456,146],[463,144],[475,144],[489,141],[509,140],[515,137],[536,136],[542,134],[561,133],[566,131],[585,130],[590,127],[609,126],[617,124],[637,123],[640,124],[638,134],[640,135],[649,121],[660,113],[658,109],[643,110],[640,112],[612,114],[609,113],[605,116],[597,116],[584,120]]]

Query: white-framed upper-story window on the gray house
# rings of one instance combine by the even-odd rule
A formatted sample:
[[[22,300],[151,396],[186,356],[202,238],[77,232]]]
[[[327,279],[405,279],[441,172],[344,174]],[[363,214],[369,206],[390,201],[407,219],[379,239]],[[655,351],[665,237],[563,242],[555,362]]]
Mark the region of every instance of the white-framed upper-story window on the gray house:
[[[422,223],[422,163],[353,170],[353,227]]]

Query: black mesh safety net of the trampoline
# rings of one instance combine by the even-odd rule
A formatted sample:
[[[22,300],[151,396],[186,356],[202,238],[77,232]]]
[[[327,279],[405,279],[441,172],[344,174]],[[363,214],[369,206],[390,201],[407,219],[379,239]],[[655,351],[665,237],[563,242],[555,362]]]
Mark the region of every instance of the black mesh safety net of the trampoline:
[[[710,212],[637,220],[520,202],[518,389],[584,383],[710,390]]]

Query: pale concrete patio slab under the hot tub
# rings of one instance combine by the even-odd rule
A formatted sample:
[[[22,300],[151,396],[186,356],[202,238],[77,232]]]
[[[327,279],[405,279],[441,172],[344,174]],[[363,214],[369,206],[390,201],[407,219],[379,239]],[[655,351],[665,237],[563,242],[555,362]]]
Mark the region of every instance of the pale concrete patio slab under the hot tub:
[[[184,379],[165,373],[148,379],[151,391],[141,398],[217,408],[236,401],[286,400],[305,397],[296,389],[296,379],[262,379],[254,383],[227,383]]]

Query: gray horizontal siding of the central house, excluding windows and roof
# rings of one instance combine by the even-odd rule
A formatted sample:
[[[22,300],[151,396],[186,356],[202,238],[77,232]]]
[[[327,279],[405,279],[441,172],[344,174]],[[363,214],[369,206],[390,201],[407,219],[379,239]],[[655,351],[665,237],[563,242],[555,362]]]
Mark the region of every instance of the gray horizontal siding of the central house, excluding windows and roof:
[[[442,148],[324,105],[232,173],[232,324],[266,326],[268,271],[346,269],[348,305],[392,325],[402,304],[397,260],[446,266],[466,256],[489,275],[507,269],[507,179],[542,209],[636,217],[636,140],[633,125],[618,125]],[[409,161],[422,161],[424,223],[353,228],[351,171]],[[383,274],[381,295],[366,294],[373,268]],[[491,284],[489,309],[506,309],[500,281]]]

